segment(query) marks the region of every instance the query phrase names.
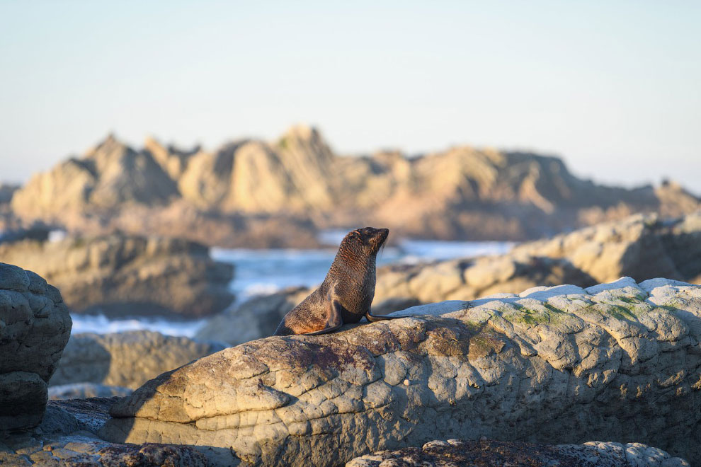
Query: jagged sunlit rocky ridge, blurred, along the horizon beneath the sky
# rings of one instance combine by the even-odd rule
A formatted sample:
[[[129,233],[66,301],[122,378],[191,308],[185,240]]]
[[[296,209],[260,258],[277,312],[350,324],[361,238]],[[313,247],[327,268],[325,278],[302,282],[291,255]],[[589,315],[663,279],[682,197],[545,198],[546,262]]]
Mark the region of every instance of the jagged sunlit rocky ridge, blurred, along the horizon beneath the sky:
[[[674,183],[627,190],[571,175],[559,158],[457,146],[409,158],[338,156],[317,130],[181,151],[110,136],[14,193],[24,224],[122,229],[217,246],[315,246],[319,229],[388,226],[395,236],[540,238],[633,212],[699,207]]]

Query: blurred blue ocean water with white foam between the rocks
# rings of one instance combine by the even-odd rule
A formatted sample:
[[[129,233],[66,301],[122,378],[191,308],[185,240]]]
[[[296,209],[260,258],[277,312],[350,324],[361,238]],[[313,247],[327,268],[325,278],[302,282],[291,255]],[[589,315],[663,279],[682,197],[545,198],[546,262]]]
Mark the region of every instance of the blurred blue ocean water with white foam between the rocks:
[[[338,245],[345,232],[322,234],[324,243]],[[403,240],[398,246],[387,247],[377,256],[377,264],[418,263],[430,260],[467,258],[477,255],[506,253],[513,243]],[[271,294],[290,286],[311,287],[319,284],[334,261],[336,246],[294,250],[244,248],[212,248],[212,258],[235,267],[234,280],[229,287],[241,302],[258,294]],[[123,330],[155,330],[166,335],[192,337],[207,318],[183,320],[178,318],[119,318],[73,315],[73,333],[114,333]]]

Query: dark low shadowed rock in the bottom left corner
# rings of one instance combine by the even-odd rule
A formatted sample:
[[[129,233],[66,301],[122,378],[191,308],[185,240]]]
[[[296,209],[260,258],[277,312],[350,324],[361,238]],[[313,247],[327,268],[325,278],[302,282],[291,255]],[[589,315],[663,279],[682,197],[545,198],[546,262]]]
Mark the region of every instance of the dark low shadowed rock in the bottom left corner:
[[[0,436],[3,467],[205,467],[188,446],[113,444],[96,431],[108,420],[114,398],[50,401],[33,432]]]

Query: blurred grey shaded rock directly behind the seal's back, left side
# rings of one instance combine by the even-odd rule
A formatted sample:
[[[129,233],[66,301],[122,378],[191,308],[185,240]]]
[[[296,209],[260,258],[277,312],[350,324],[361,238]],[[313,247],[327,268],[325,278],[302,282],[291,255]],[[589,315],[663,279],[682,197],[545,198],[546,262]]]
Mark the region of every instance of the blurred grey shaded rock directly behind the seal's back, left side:
[[[273,335],[283,316],[309,293],[311,290],[306,287],[290,287],[275,294],[253,296],[212,316],[195,337],[230,345],[268,337]]]

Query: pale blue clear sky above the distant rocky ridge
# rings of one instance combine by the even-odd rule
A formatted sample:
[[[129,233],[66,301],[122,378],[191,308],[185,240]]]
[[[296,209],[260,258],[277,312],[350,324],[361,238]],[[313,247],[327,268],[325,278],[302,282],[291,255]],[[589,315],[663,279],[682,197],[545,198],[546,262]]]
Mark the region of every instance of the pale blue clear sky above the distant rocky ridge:
[[[380,6],[377,6],[379,4]],[[701,194],[698,1],[0,1],[0,180],[115,132],[209,149],[317,125]]]

